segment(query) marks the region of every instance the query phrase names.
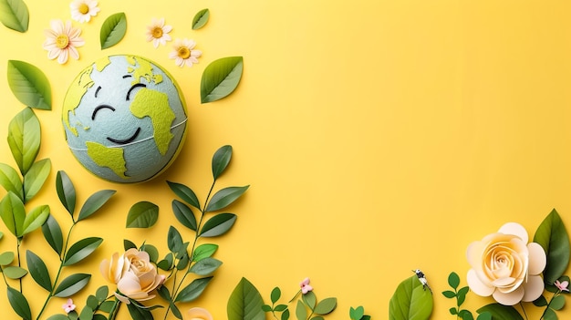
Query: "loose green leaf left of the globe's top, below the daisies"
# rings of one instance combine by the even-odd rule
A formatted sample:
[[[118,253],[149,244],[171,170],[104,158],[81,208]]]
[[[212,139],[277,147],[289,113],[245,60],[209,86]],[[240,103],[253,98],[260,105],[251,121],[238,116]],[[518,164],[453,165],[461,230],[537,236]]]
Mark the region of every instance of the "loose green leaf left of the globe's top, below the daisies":
[[[24,61],[8,60],[8,85],[26,107],[51,110],[51,87],[46,75],[37,67]]]

